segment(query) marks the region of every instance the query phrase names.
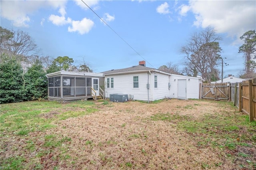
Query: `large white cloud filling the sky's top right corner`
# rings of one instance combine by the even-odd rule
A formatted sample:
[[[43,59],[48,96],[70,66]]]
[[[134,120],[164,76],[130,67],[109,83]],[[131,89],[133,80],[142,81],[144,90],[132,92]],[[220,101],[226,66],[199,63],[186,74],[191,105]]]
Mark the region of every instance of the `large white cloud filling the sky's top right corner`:
[[[195,1],[190,0],[188,7],[180,7],[180,15],[190,10],[194,13],[194,25],[202,28],[211,26],[218,33],[239,38],[256,26],[255,1]]]

